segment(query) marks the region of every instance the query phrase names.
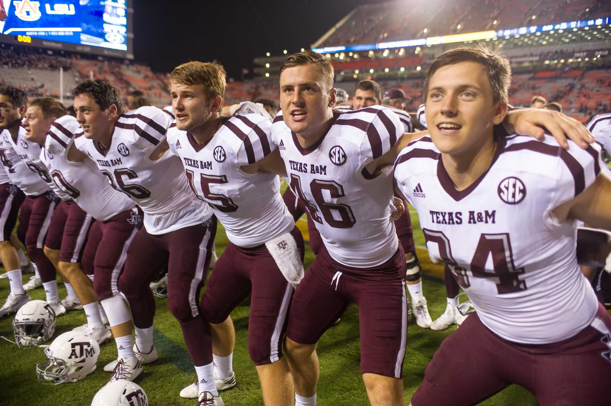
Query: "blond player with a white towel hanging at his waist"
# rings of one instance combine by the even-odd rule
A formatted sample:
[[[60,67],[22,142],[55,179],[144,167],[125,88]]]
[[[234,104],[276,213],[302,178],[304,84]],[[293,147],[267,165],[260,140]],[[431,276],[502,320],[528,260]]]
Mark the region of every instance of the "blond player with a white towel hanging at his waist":
[[[270,173],[278,170],[266,166],[266,157],[279,153],[271,142],[271,120],[254,113],[220,115],[225,87],[218,63],[175,68],[170,96],[176,125],[167,142],[181,158],[193,193],[210,205],[229,238],[202,297],[203,316],[213,324],[224,322],[251,295],[248,349],[263,400],[288,405],[294,391],[282,343],[294,290],[290,282],[298,284],[303,272],[304,242],[280,196],[278,176]],[[232,377],[229,372],[219,378]],[[211,374],[204,378],[214,382]],[[200,401],[210,397],[206,391],[218,396],[214,386],[200,383]]]

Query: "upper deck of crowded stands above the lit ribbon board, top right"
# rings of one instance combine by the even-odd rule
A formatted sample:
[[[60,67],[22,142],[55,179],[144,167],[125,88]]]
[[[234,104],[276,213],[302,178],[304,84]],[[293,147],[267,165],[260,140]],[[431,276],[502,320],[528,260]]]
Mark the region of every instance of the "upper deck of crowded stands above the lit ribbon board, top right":
[[[422,21],[423,15],[427,16],[425,21]],[[461,32],[586,20],[609,15],[611,15],[611,2],[608,0],[382,2],[357,7],[348,20],[336,27],[335,32],[318,46],[408,40]],[[423,32],[425,28],[426,32]]]

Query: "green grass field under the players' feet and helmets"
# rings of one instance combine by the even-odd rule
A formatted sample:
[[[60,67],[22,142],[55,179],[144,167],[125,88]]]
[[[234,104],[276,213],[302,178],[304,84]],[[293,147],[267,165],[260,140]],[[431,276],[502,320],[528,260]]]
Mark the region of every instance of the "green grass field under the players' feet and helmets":
[[[415,241],[424,245],[418,217],[412,209],[412,223],[415,230]],[[305,220],[298,222],[307,240]],[[216,236],[216,252],[221,255],[227,245],[224,228],[219,224]],[[430,263],[425,250],[419,249],[420,261],[425,271],[424,292],[428,300],[431,317],[436,319],[445,310],[445,288],[443,285],[442,267]],[[306,247],[305,269],[314,259]],[[2,271],[3,272],[3,271]],[[31,274],[26,274],[24,282]],[[58,277],[59,280],[59,277]],[[60,298],[65,297],[63,284],[59,285]],[[0,300],[4,303],[9,294],[9,282],[0,279]],[[32,299],[45,300],[42,288],[30,291]],[[178,322],[167,309],[166,299],[156,299],[155,344],[159,351],[159,360],[145,366],[143,374],[136,383],[144,388],[150,405],[196,405],[194,399],[182,399],[178,392],[196,380],[191,358]],[[246,345],[248,328],[248,300],[241,303],[231,314],[236,330],[236,347],[233,354],[233,368],[237,385],[231,390],[222,392],[228,406],[262,405],[260,385],[254,364],[249,359]],[[0,335],[13,339],[12,317],[0,319]],[[57,319],[55,336],[67,332],[73,327],[84,324],[82,311],[71,311]],[[359,371],[359,320],[355,305],[348,307],[342,321],[327,331],[318,344],[320,357],[320,382],[318,385],[318,405],[368,405],[365,386]],[[415,324],[408,328],[408,349],[403,365],[404,399],[409,404],[412,394],[417,390],[424,375],[426,364],[433,357],[441,341],[452,334],[456,327],[442,332],[422,329]],[[50,344],[50,341],[49,343]],[[117,357],[114,342],[101,346],[98,358],[98,369],[89,377],[76,383],[62,385],[40,385],[35,375],[35,364],[46,360],[43,349],[19,349],[15,344],[0,340],[0,405],[10,406],[88,406],[94,394],[108,382],[111,374],[104,372],[104,364]],[[477,385],[477,382],[473,382]],[[520,388],[510,386],[482,405],[488,406],[533,406],[538,403],[534,397]]]

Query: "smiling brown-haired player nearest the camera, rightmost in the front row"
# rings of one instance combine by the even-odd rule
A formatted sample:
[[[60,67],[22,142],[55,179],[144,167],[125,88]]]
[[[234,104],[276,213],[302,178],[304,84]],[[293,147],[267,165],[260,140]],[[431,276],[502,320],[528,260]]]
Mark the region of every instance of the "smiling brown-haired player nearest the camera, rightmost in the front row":
[[[596,144],[494,136],[510,82],[509,61],[488,49],[437,57],[425,80],[430,137],[395,162],[431,256],[476,310],[435,353],[415,406],[471,405],[511,383],[541,405],[609,404],[611,317],[575,247],[576,219],[611,228],[611,181]]]

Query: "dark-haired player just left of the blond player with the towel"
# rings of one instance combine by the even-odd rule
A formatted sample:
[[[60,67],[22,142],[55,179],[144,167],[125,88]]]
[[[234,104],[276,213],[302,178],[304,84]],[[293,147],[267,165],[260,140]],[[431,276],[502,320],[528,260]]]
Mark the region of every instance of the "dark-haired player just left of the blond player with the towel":
[[[152,337],[155,298],[149,283],[169,259],[167,304],[181,326],[201,381],[204,375],[211,375],[208,370],[213,363],[207,351],[212,345],[210,325],[200,314],[197,298],[208,273],[216,218],[208,205],[192,195],[180,158],[168,152],[166,132],[171,117],[150,106],[123,114],[117,89],[102,80],[83,82],[72,94],[84,131],[76,139],[76,148],[92,158],[111,185],[145,213],[144,227],[130,243],[119,278],[119,291],[130,302],[136,337],[142,338],[143,347],[136,349],[155,352],[156,359]],[[230,323],[228,319],[214,331],[221,343],[232,340],[233,327],[226,327]],[[115,338],[123,350],[111,380],[133,380],[142,372],[132,350],[130,325],[125,322],[124,335]]]

